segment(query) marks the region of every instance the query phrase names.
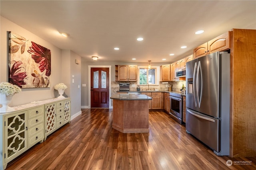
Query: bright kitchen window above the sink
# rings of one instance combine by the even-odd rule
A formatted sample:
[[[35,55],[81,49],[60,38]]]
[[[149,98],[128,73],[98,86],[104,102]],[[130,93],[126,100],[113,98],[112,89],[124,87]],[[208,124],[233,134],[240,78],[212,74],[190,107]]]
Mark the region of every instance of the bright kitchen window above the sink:
[[[150,69],[146,66],[139,67],[139,74],[138,74],[138,85],[156,85],[158,84],[157,80],[159,80],[159,76],[157,76],[158,69],[157,67],[151,67]]]

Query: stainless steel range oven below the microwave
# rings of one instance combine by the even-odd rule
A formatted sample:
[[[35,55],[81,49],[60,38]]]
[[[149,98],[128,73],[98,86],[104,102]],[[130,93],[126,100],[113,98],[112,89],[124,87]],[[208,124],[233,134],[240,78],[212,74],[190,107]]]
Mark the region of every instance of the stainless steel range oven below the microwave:
[[[170,93],[170,115],[180,124],[182,124],[182,103],[180,93]]]

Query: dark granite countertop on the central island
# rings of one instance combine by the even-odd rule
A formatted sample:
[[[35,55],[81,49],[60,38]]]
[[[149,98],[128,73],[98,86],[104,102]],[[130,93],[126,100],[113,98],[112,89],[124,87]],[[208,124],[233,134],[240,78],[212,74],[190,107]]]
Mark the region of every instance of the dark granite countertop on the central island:
[[[114,100],[152,100],[145,94],[114,94],[110,97]]]

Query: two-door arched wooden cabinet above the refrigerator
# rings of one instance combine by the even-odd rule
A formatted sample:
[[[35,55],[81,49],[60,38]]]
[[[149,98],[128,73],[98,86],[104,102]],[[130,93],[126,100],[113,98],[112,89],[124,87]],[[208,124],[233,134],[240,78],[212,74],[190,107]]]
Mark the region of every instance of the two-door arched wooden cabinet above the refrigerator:
[[[203,57],[216,51],[225,51],[230,49],[230,32],[226,32],[196,48],[194,48],[194,59]]]

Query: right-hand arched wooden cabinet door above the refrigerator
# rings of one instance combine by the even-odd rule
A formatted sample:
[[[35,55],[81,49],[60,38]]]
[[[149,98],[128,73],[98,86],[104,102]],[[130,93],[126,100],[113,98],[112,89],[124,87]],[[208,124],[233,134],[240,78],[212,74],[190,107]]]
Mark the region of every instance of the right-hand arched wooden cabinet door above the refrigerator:
[[[208,41],[208,54],[230,48],[229,31]]]

